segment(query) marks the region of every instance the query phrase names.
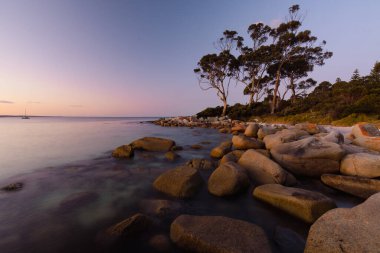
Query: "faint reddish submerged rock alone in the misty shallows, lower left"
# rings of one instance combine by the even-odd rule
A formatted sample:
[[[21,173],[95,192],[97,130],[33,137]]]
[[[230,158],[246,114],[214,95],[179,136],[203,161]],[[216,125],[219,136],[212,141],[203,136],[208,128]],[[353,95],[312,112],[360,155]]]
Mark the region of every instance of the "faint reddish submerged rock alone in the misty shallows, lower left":
[[[59,204],[61,210],[72,210],[88,205],[99,198],[96,192],[77,192],[64,198]]]

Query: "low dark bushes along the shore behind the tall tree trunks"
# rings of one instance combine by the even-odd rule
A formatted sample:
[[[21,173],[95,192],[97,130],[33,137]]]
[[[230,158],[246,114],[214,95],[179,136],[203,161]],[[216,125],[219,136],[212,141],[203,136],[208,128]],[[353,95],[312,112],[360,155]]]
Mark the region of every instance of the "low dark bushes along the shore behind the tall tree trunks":
[[[305,80],[306,81],[306,80]],[[236,104],[228,107],[226,114],[233,119],[246,119],[270,113],[270,97],[251,105]],[[217,116],[222,107],[207,108],[197,114],[199,117]],[[319,83],[309,94],[296,95],[294,99],[282,100],[278,116],[318,113],[323,117],[337,120],[351,114],[377,115],[380,119],[380,62],[376,62],[367,76],[361,76],[356,69],[349,81],[337,78],[335,83]]]

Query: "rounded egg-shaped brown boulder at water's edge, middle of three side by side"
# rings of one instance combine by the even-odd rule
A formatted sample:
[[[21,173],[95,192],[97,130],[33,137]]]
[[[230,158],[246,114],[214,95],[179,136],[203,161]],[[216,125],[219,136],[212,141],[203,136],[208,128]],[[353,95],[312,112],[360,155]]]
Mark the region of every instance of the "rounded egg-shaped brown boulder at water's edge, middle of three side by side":
[[[208,191],[219,197],[234,195],[248,185],[245,169],[234,162],[221,164],[208,179]]]

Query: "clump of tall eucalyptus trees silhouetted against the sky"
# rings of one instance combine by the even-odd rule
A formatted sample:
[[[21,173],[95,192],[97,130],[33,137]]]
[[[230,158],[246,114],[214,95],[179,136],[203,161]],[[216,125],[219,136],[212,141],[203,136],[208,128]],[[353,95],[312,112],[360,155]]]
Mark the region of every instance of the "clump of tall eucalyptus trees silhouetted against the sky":
[[[287,104],[289,92],[290,102],[295,104],[316,85],[307,76],[315,66],[324,65],[332,52],[323,49],[325,41],[317,44],[311,31],[301,29],[299,10],[299,5],[291,6],[286,21],[276,28],[250,25],[248,42],[236,31],[226,30],[215,43],[218,52],[199,60],[194,69],[199,85],[216,91],[223,103],[222,116],[227,113],[231,82],[244,85],[244,94],[249,96],[245,110],[251,114],[263,104],[271,114],[279,112]]]

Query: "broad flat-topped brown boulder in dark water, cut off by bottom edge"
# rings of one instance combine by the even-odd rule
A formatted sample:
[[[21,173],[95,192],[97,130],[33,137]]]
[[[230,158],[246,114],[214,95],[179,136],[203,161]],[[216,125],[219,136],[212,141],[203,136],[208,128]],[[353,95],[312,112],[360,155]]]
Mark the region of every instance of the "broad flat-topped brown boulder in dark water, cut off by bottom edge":
[[[170,237],[189,252],[271,252],[263,229],[223,216],[181,215],[170,226]]]

